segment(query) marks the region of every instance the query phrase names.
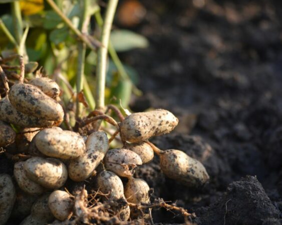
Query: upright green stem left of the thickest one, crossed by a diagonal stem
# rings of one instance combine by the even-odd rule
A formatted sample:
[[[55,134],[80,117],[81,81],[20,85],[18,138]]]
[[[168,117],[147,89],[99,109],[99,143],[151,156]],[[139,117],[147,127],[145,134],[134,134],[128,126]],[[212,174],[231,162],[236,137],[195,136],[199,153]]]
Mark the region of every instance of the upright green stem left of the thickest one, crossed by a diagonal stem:
[[[82,33],[87,32],[87,26],[89,23],[89,16],[88,16],[88,8],[89,8],[89,0],[82,0],[80,1],[80,21],[79,21],[79,30]],[[77,94],[82,91],[83,89],[83,79],[84,79],[84,65],[85,65],[85,53],[86,53],[86,44],[83,41],[78,42],[78,66],[77,66],[77,77],[76,77],[76,89]],[[82,103],[79,102],[77,97],[76,99],[76,117],[80,116],[82,111]]]

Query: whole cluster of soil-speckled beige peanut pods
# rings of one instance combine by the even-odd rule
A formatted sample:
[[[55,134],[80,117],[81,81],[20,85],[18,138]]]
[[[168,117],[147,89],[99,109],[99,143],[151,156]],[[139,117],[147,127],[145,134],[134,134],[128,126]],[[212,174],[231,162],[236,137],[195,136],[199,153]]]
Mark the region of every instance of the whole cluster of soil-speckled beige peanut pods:
[[[0,72],[3,75],[4,71]],[[183,151],[160,150],[148,141],[177,125],[178,119],[167,110],[128,115],[119,123],[123,146],[109,149],[104,131],[82,136],[59,127],[64,110],[56,100],[60,88],[55,81],[38,77],[14,84],[10,90],[7,84],[6,89],[6,96],[0,99],[0,147],[9,151],[16,143],[29,157],[15,163],[12,177],[0,174],[0,224],[10,216],[23,217],[22,225],[70,219],[75,214],[75,199],[64,189],[67,179],[81,182],[92,177],[107,199],[148,203],[150,187],[133,174],[136,166],[151,161],[154,153],[163,173],[172,179],[195,187],[209,179],[204,166]],[[19,133],[11,123],[22,127]],[[127,183],[120,177],[127,177]],[[128,205],[118,213],[125,221],[140,214]]]

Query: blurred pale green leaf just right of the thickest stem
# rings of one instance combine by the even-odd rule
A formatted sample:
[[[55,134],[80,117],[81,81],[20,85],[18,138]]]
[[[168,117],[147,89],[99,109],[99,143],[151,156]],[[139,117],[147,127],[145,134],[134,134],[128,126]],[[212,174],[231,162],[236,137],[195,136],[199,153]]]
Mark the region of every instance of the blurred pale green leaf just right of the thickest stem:
[[[111,32],[111,41],[116,51],[145,48],[149,45],[146,37],[127,29],[113,30]]]

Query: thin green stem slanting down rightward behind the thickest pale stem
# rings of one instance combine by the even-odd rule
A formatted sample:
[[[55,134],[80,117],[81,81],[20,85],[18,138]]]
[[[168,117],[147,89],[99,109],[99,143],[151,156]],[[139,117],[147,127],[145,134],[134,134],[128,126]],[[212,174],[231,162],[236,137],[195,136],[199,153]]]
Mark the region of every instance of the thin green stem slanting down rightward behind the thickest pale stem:
[[[101,27],[103,25],[103,18],[101,16],[100,11],[97,11],[95,13],[95,18],[96,18],[98,25]],[[111,42],[111,40],[109,40],[108,48],[109,48],[109,54],[110,54],[114,64],[116,65],[117,70],[118,70],[119,74],[121,75],[121,77],[123,79],[128,79],[128,80],[131,81],[131,79],[130,79],[129,75],[127,74],[127,72],[126,72],[126,70],[125,70],[125,68],[124,68],[124,66],[123,66],[123,64],[122,64],[113,44]],[[131,81],[131,83],[132,83],[132,81]],[[142,95],[142,91],[140,89],[138,89],[134,83],[132,83],[132,89],[133,89],[133,92],[136,95],[138,95],[138,96]]]

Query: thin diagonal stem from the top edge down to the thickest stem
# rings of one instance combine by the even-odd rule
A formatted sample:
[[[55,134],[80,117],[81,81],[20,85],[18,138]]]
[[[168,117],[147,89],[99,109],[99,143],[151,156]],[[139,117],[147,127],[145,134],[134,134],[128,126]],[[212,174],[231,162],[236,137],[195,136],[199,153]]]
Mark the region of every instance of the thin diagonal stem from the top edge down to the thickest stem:
[[[53,10],[63,19],[63,21],[70,27],[71,30],[92,50],[96,50],[96,47],[92,44],[92,42],[87,38],[86,35],[82,34],[79,29],[77,29],[72,21],[61,11],[61,9],[56,5],[53,0],[46,0]],[[84,1],[84,0],[81,0]],[[98,40],[95,40],[97,44],[101,44]]]

